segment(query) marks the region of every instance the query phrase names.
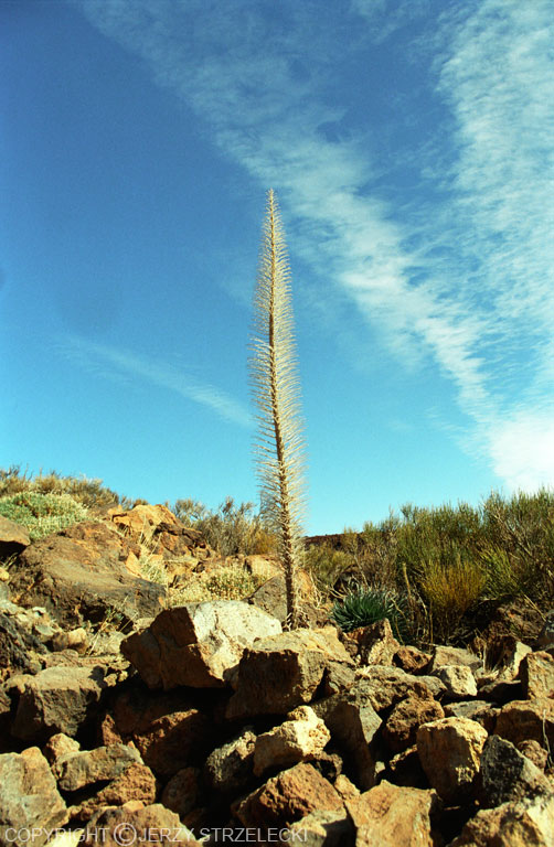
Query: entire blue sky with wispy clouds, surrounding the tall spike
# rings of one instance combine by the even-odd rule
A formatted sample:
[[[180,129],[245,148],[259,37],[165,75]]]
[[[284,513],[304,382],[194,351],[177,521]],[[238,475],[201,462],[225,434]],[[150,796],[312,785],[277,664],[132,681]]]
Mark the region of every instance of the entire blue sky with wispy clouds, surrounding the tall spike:
[[[554,482],[552,0],[0,0],[0,465],[255,501],[265,193],[309,533]]]

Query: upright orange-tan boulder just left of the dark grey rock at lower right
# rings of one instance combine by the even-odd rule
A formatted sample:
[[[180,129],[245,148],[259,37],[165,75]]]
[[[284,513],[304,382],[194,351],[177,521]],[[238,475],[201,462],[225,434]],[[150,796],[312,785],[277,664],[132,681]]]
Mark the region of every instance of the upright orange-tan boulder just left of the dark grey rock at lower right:
[[[487,730],[467,718],[441,718],[417,730],[417,753],[430,785],[446,803],[471,795]]]

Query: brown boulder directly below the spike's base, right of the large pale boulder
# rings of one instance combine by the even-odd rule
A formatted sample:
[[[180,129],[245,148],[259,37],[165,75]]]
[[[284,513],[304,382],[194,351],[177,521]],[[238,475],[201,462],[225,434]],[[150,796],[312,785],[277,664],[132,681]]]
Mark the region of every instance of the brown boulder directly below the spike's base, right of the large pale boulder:
[[[283,715],[310,703],[330,662],[351,664],[334,626],[260,639],[241,658],[226,717]]]

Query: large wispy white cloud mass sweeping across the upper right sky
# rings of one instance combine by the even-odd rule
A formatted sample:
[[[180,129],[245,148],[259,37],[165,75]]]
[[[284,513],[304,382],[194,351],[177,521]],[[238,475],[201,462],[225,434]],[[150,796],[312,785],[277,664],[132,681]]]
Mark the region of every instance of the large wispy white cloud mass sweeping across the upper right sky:
[[[78,4],[189,103],[227,156],[278,189],[295,251],[334,279],[390,351],[406,366],[438,365],[499,476],[554,480],[554,446],[536,437],[553,416],[550,0],[445,13],[417,4],[434,45],[426,95],[444,122],[425,143],[398,142],[393,162],[376,152],[386,127],[350,120],[333,96],[333,65],[347,56],[366,73],[413,4],[399,14],[396,2],[355,0],[332,21],[317,3],[284,2],[277,15],[249,0]],[[397,202],[381,189],[394,185],[395,162],[417,172],[415,190],[401,193],[398,180]]]

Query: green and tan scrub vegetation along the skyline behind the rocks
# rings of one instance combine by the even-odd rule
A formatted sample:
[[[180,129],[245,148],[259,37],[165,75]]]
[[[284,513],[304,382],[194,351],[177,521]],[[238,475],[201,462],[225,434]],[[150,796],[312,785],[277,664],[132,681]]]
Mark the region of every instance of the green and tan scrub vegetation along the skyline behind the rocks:
[[[0,470],[0,514],[26,526],[32,538],[108,505],[130,508],[134,502],[99,480]],[[227,497],[215,511],[193,500],[167,505],[222,556],[278,549],[270,521],[251,503]],[[479,506],[405,505],[379,524],[331,538],[308,543],[303,567],[320,603],[344,630],[386,615],[404,641],[461,643],[503,603],[521,599],[543,612],[554,605],[552,491],[493,493]],[[236,597],[233,575],[221,577],[211,594],[221,583],[222,596]]]

